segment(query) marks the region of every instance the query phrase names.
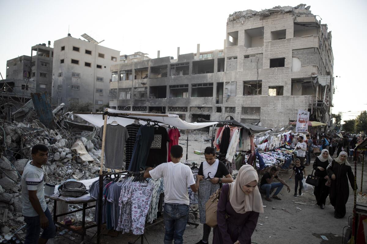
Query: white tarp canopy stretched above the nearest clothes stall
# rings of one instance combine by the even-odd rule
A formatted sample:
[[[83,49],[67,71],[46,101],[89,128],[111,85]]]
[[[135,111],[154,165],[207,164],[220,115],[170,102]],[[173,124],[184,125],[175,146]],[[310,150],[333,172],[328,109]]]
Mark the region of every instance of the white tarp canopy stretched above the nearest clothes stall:
[[[206,122],[206,123],[187,123],[184,120],[181,120],[178,115],[172,114],[151,114],[151,113],[136,113],[130,111],[120,111],[115,109],[108,109],[108,119],[107,124],[112,123],[112,121],[117,121],[122,126],[126,126],[128,124],[134,123],[135,119],[128,119],[123,117],[113,117],[111,113],[128,113],[128,114],[136,114],[130,115],[129,117],[135,117],[138,119],[146,119],[146,120],[155,120],[159,121],[160,125],[171,125],[172,127],[177,127],[178,129],[200,129],[207,126],[218,124],[218,122]],[[94,114],[78,114],[74,113],[74,115],[80,117],[83,120],[88,121],[89,123],[97,126],[102,127],[104,120],[102,119],[102,115],[94,115]],[[152,116],[154,115],[154,116]],[[160,115],[160,116],[157,116]],[[141,124],[146,124],[145,121],[140,121]]]

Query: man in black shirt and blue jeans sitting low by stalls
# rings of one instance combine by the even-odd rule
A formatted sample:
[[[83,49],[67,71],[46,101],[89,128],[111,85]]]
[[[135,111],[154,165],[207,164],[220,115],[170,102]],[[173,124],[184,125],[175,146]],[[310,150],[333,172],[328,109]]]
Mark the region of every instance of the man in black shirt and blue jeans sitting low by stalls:
[[[277,196],[279,194],[279,192],[281,191],[281,188],[283,188],[283,185],[285,185],[287,187],[288,193],[291,191],[291,188],[289,187],[289,185],[287,185],[287,183],[280,179],[279,176],[279,171],[277,170],[277,168],[275,166],[273,166],[272,168],[270,168],[270,173],[269,172],[265,172],[264,175],[261,178],[261,183],[260,183],[260,188],[264,191],[266,191],[266,198],[265,200],[271,202],[272,199],[269,198],[270,195],[270,190],[277,188],[276,191],[274,192],[272,198],[277,199],[277,200],[281,200],[281,198],[279,196]],[[278,183],[273,183],[273,180],[277,179],[280,182]]]

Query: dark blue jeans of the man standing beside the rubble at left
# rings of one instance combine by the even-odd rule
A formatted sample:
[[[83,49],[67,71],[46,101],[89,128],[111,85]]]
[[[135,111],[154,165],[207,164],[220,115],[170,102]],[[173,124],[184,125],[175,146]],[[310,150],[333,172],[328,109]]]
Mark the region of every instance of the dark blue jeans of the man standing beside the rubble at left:
[[[48,240],[55,237],[56,226],[54,224],[54,220],[52,219],[50,210],[46,208],[46,211],[44,213],[48,219],[48,226],[46,229],[43,230],[41,238]],[[41,232],[40,217],[38,215],[34,217],[24,216],[24,222],[27,224],[25,226],[27,234],[25,236],[24,244],[38,243],[38,239],[40,238],[40,232]]]

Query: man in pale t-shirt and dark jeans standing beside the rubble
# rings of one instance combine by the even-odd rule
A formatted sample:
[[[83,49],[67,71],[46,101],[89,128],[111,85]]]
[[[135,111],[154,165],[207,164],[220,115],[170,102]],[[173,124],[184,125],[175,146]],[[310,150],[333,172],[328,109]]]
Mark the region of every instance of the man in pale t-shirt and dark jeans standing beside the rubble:
[[[55,237],[56,226],[47,208],[44,194],[42,165],[47,164],[48,148],[43,144],[32,147],[32,159],[22,174],[22,214],[26,223],[25,244],[46,244]],[[41,228],[43,232],[40,237]]]

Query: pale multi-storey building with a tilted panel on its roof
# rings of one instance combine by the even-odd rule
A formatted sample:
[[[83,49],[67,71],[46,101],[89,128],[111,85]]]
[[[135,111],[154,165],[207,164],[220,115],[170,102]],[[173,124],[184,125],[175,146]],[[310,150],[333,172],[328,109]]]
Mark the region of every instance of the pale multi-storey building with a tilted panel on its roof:
[[[93,111],[109,103],[110,68],[120,51],[68,35],[54,42],[52,100],[66,105],[91,102]]]

